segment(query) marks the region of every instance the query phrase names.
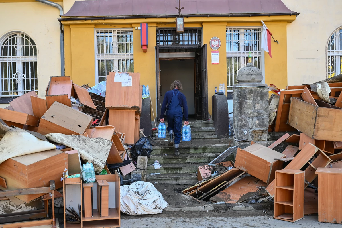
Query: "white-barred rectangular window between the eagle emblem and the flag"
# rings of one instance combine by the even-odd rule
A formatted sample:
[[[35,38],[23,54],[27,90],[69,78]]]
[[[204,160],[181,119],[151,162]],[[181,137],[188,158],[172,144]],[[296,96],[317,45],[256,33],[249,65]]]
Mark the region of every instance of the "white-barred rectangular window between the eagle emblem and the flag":
[[[248,63],[248,55],[255,67],[262,69],[261,28],[227,28],[227,91],[237,84],[238,71]]]

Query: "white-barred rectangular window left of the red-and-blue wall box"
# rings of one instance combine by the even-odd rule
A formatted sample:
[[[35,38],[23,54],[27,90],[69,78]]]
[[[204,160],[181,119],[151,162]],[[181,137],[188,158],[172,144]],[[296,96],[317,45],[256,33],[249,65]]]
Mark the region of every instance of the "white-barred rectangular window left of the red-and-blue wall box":
[[[133,30],[95,30],[96,81],[106,81],[109,71],[134,72]]]

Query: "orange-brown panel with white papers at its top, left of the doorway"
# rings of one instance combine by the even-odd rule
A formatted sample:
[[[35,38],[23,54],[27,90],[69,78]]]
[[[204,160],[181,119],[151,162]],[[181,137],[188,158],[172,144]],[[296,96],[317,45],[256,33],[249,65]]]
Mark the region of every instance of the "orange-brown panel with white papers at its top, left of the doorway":
[[[121,86],[121,82],[114,82],[115,73],[109,72],[107,76],[106,108],[139,109],[140,73],[128,73],[132,76],[132,86]]]

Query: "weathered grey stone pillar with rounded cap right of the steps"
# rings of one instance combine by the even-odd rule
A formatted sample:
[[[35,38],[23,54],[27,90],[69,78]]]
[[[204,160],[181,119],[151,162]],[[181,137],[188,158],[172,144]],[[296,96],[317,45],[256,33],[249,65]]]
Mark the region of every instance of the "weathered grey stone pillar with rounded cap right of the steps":
[[[262,84],[259,68],[248,63],[238,72],[233,89],[233,119],[236,140],[267,141],[268,86]],[[236,143],[236,145],[238,145]]]

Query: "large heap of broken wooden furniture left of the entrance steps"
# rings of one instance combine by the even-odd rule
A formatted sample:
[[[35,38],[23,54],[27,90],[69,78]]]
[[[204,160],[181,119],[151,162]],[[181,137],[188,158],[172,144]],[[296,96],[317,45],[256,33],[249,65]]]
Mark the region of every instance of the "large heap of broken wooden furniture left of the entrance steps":
[[[142,92],[139,73],[129,73],[129,86],[114,82],[111,73],[101,93],[70,77],[50,77],[46,99],[31,91],[0,109],[1,227],[29,219],[39,220],[18,226],[54,226],[47,200],[56,197],[63,197],[64,227],[120,227],[120,183],[135,170],[123,144],[139,139]],[[86,163],[94,166],[94,183],[82,181]],[[110,172],[107,164],[118,163],[124,165]],[[13,213],[1,208],[6,205]]]

